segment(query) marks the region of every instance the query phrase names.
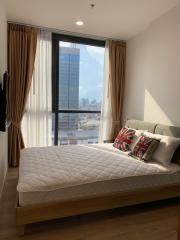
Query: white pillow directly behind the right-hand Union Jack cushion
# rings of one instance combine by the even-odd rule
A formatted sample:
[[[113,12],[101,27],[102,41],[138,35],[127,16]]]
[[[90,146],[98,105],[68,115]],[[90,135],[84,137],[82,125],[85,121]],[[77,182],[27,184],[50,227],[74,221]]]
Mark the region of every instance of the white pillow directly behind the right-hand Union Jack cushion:
[[[153,153],[152,159],[162,163],[163,165],[169,165],[174,152],[180,145],[180,138],[152,134],[149,132],[145,132],[144,135],[147,137],[161,139],[158,148]]]

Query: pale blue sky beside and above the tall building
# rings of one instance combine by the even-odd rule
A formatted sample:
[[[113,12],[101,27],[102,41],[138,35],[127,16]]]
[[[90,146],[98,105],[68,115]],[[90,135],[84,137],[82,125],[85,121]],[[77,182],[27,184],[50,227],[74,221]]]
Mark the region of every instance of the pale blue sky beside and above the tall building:
[[[60,46],[71,47],[72,45],[68,42],[60,42]],[[90,101],[101,102],[105,49],[84,44],[75,46],[80,49],[79,100],[88,98]]]

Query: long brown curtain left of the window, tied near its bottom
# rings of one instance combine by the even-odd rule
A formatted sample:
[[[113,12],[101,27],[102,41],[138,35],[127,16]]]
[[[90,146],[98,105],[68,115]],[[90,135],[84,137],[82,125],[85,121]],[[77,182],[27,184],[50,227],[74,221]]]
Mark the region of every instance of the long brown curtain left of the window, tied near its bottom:
[[[21,120],[31,85],[36,44],[36,29],[8,24],[8,160],[13,167],[19,165],[20,150],[24,148]]]

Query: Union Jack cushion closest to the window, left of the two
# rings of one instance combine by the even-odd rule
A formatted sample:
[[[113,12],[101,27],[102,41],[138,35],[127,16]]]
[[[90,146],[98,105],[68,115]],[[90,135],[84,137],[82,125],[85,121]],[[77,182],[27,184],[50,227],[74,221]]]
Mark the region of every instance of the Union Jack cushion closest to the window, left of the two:
[[[122,128],[113,143],[113,147],[123,152],[130,151],[130,145],[133,142],[134,135],[135,130],[126,127]]]

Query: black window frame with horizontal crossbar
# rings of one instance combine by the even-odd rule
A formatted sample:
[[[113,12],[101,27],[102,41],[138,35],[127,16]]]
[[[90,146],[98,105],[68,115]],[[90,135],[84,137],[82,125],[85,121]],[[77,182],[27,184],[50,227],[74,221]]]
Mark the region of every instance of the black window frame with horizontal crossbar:
[[[59,113],[101,113],[95,110],[59,109],[59,42],[73,42],[90,46],[105,47],[105,41],[52,33],[52,113],[55,114],[54,145],[58,145]]]

